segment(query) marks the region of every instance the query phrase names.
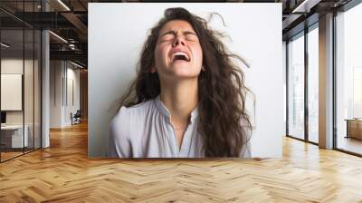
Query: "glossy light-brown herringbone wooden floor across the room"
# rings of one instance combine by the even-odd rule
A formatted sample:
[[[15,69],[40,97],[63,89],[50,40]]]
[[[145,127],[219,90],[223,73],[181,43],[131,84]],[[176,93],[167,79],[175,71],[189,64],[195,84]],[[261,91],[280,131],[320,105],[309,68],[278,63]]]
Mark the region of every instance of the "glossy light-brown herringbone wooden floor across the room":
[[[87,126],[0,164],[0,202],[362,202],[362,159],[285,138],[266,160],[88,160]]]

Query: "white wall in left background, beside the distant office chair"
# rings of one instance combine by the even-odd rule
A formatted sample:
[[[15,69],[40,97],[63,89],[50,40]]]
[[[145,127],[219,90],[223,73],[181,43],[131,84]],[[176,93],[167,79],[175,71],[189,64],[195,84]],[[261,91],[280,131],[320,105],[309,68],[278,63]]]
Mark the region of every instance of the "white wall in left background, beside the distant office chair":
[[[70,126],[71,112],[80,109],[80,71],[65,61],[51,61],[50,66],[50,128]],[[74,103],[69,98],[71,81]]]

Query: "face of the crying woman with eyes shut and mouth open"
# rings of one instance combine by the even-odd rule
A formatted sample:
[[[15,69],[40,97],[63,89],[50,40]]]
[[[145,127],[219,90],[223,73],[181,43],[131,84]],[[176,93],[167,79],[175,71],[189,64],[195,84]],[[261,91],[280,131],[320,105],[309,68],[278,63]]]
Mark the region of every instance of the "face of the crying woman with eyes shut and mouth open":
[[[164,79],[197,78],[202,64],[203,51],[191,24],[182,20],[167,22],[159,32],[151,71]]]

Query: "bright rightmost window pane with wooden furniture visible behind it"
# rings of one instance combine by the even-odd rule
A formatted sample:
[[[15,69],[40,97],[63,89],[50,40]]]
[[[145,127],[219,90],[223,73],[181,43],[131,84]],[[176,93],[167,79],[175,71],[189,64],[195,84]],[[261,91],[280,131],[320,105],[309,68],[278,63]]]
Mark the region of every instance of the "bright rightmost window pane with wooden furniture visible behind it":
[[[362,4],[336,16],[338,150],[362,155]]]

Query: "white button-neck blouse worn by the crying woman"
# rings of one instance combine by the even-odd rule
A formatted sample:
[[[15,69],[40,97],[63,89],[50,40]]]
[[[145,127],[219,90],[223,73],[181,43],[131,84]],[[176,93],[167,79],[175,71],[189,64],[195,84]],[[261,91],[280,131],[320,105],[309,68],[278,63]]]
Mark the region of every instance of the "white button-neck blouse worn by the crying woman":
[[[110,123],[109,156],[117,158],[204,158],[203,139],[197,132],[197,107],[191,113],[178,148],[171,114],[159,95],[154,100],[126,108],[122,106]],[[249,141],[248,141],[249,143]],[[242,158],[250,158],[250,145]]]

